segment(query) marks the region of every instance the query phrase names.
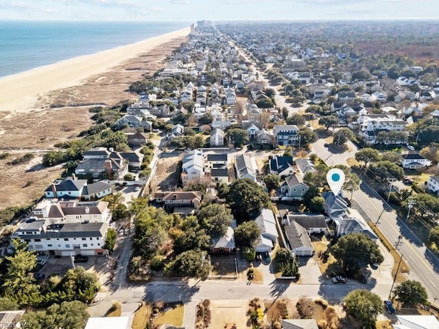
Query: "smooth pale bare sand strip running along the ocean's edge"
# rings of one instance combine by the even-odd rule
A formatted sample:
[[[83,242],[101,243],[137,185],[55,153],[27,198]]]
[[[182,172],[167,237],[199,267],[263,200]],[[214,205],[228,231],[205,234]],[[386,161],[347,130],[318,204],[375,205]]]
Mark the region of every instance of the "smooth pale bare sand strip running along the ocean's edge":
[[[134,42],[91,55],[63,60],[55,64],[0,78],[0,111],[10,114],[38,110],[39,95],[81,84],[83,80],[104,73],[113,66],[150,51],[174,38],[187,36],[189,27],[143,41]]]

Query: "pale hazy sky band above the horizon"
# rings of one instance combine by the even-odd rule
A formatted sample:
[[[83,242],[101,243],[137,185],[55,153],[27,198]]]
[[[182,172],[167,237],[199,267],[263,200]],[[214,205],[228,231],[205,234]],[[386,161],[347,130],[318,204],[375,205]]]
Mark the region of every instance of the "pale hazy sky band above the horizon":
[[[0,0],[0,20],[436,19],[439,0]]]

